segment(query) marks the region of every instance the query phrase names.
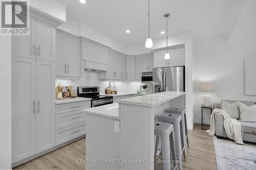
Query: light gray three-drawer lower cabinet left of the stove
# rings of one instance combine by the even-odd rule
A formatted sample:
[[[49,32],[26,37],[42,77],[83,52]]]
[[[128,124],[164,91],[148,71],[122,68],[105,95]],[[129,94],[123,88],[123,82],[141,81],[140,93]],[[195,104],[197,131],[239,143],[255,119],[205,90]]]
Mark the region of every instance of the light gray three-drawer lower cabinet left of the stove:
[[[56,145],[86,134],[86,114],[91,101],[56,105]]]

